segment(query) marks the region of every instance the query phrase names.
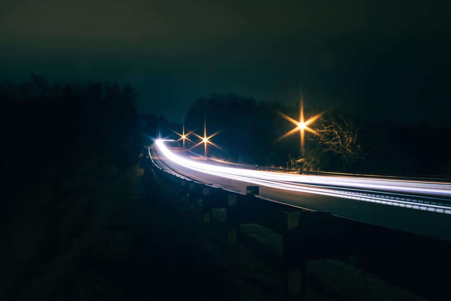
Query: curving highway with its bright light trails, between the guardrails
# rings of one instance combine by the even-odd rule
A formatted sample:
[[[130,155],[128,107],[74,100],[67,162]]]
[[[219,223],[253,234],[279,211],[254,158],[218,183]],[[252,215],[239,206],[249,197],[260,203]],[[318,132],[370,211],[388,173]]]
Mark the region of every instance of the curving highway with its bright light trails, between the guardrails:
[[[349,176],[299,175],[205,161],[157,140],[149,148],[157,167],[207,185],[343,218],[451,241],[451,184]]]

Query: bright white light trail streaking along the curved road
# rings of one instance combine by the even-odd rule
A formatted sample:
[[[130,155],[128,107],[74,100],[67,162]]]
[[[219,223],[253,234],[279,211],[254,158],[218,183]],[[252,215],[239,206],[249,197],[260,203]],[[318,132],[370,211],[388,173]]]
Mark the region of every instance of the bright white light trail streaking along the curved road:
[[[163,140],[157,140],[156,145],[161,153],[172,162],[213,176],[221,176],[282,190],[356,199],[440,213],[451,213],[451,206],[445,204],[447,202],[446,199],[405,195],[406,193],[418,193],[433,196],[451,196],[451,185],[447,183],[337,176],[301,176],[271,171],[223,167],[205,162],[196,162],[195,160],[178,156],[166,147]]]

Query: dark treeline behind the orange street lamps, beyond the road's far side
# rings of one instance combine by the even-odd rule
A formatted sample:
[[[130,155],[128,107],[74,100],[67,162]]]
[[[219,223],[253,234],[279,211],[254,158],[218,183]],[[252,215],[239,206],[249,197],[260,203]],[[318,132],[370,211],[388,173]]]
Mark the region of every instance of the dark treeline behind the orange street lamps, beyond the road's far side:
[[[343,158],[343,154],[346,155],[346,148],[344,150],[342,148],[343,154],[336,153],[334,152],[336,149],[322,144],[318,136],[306,131],[304,170],[450,174],[451,156],[445,141],[449,136],[447,128],[430,128],[427,121],[396,123],[380,116],[368,120],[360,116],[359,111],[315,107],[315,103],[308,100],[306,103],[304,106],[306,119],[324,112],[322,120],[310,125],[313,130],[324,130],[324,126],[331,125],[331,120],[328,120],[330,116],[335,116],[337,125],[341,125],[342,128],[349,129],[345,123],[351,122],[352,133],[357,133],[358,137],[352,148],[356,154],[351,156],[350,161]],[[207,136],[221,131],[212,138],[212,141],[222,150],[209,145],[209,155],[234,162],[289,167],[289,156],[300,157],[299,131],[280,139],[282,135],[294,129],[295,125],[281,118],[276,111],[281,111],[294,119],[299,118],[297,105],[257,102],[253,98],[240,97],[233,93],[212,94],[208,98],[198,99],[187,111],[185,127],[195,130],[202,136],[205,118]],[[164,120],[162,117],[160,119]],[[181,124],[166,122],[166,126],[173,130],[181,130]],[[175,135],[173,137],[176,138]],[[199,141],[194,136],[190,137],[196,142]],[[195,151],[203,153],[203,147],[199,146]]]

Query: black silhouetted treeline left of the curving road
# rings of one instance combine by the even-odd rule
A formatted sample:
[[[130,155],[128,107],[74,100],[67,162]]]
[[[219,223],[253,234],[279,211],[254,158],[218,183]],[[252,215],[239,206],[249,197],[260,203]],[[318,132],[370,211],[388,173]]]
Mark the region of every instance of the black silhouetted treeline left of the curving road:
[[[43,186],[55,199],[68,194],[83,177],[81,167],[130,166],[140,148],[135,98],[130,84],[47,83],[37,74],[23,83],[1,82],[1,165],[9,203]]]

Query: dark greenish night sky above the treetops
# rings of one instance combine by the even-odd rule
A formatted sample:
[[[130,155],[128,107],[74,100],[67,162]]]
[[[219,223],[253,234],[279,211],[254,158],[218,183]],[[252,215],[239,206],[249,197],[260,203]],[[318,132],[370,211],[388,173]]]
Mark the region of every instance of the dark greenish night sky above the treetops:
[[[201,96],[447,123],[446,1],[0,0],[0,78],[131,82],[179,121]]]

